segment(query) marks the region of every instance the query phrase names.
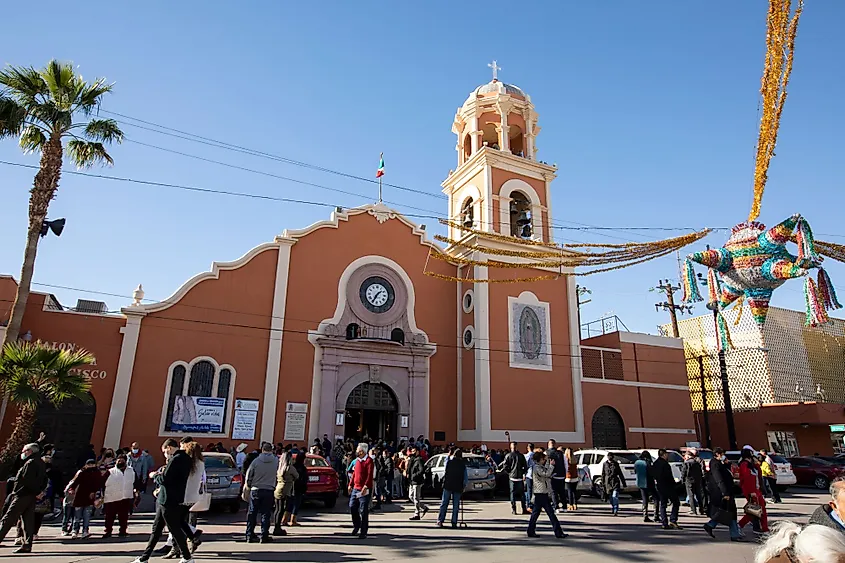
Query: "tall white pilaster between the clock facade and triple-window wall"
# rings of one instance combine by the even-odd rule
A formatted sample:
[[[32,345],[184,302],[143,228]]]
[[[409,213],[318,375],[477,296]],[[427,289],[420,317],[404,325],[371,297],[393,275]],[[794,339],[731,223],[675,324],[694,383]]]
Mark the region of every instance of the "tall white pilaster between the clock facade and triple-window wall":
[[[267,372],[264,377],[264,404],[261,411],[261,441],[273,441],[276,427],[276,405],[279,396],[279,371],[282,365],[282,341],[285,329],[291,239],[276,238],[279,259],[276,262],[276,282],[273,291],[273,317],[270,320],[270,342],[267,346]]]

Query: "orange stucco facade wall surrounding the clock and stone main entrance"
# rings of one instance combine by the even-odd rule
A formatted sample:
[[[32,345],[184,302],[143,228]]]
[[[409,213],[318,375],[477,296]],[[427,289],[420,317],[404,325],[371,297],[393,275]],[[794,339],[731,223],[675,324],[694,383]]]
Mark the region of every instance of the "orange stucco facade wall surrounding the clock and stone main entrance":
[[[417,326],[438,344],[430,360],[430,431],[445,431],[447,441],[457,439],[456,290],[452,282],[423,274],[426,263],[430,271],[447,275],[454,275],[455,267],[434,258],[429,260],[428,254],[429,247],[421,245],[407,225],[398,220],[379,223],[366,213],[351,216],[337,229],[317,229],[293,246],[282,343],[280,408],[287,401],[311,403],[314,346],[308,342],[307,332],[334,315],[343,271],[362,256],[384,256],[399,263],[411,278],[416,293]],[[435,303],[437,306],[432,306]],[[276,417],[277,436],[283,435],[284,422],[284,416]],[[306,432],[313,440],[310,428]]]

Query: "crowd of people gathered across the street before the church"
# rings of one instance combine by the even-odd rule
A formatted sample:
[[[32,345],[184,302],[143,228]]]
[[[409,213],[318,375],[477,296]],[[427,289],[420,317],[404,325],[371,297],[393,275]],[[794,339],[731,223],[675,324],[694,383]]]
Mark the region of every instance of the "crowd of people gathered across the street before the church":
[[[398,444],[385,440],[356,443],[350,439],[338,439],[333,444],[324,435],[322,440],[315,439],[307,451],[298,444],[270,443],[263,443],[252,452],[247,449],[246,444],[241,444],[227,452],[220,443],[203,448],[191,437],[178,442],[168,439],[161,446],[166,463],[156,468],[150,453],[137,443],[116,451],[103,449],[99,455],[89,446],[78,458],[79,469],[65,479],[53,464],[55,448],[46,444],[42,435],[37,442],[23,447],[15,476],[9,480],[0,518],[0,540],[14,527],[19,544],[15,553],[30,553],[45,517],[59,516],[62,537],[88,538],[97,510],[104,517],[104,538],[113,536],[115,521],[117,536],[126,537],[129,519],[152,484],[156,507],[152,531],[146,548],[134,563],[145,563],[154,552],[190,563],[202,544],[196,514],[207,510],[210,503],[203,451],[232,454],[243,472],[242,499],[249,506],[246,542],[268,543],[273,536],[287,535],[285,528],[300,525],[299,509],[308,487],[307,453],[323,456],[337,471],[349,498],[352,534],[360,539],[368,535],[370,512],[394,499],[408,499],[412,508],[409,519],[422,520],[430,510],[422,501],[424,485],[431,484],[426,461],[431,456],[447,454],[435,525],[446,524],[451,506],[449,523],[452,528],[458,527],[468,470],[464,450],[454,445],[432,446],[423,436]],[[483,445],[468,450],[483,456],[491,469],[507,478],[512,514],[530,515],[526,530],[529,537],[537,535],[537,521],[542,513],[548,517],[555,536],[566,537],[557,515],[578,510],[577,487],[582,478],[572,449],[549,440],[545,448],[527,444],[524,451],[516,442],[510,442],[507,451],[488,450]],[[742,541],[748,524],[757,535],[766,534],[757,554],[758,563],[827,561],[807,559],[806,554],[813,549],[838,549],[837,541],[842,542],[845,537],[845,478],[831,483],[829,503],[813,513],[808,527],[780,522],[770,532],[766,497],[775,503],[781,499],[774,464],[765,451],[757,452],[750,446],[741,450],[739,494],[731,461],[721,448],[713,450],[709,464],[695,448],[684,453],[682,488],[675,480],[668,453],[658,450],[657,458],[652,459],[648,451],[643,451],[634,463],[644,522],[657,522],[667,530],[681,529],[680,489],[686,493],[689,513],[708,517],[702,527],[710,537],[715,538],[718,526],[725,526],[732,541]],[[619,496],[631,486],[613,453],[606,456],[600,483],[601,497],[610,505],[611,514],[621,516]],[[742,508],[738,499],[745,501]],[[165,528],[167,542],[158,547]]]

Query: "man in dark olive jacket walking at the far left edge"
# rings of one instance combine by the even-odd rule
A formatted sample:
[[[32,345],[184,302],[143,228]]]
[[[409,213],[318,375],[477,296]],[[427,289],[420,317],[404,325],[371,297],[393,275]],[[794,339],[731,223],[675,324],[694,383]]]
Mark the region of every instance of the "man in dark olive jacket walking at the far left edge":
[[[47,487],[47,468],[39,455],[36,443],[27,444],[21,450],[23,465],[15,476],[12,494],[6,499],[3,518],[0,519],[0,542],[9,533],[18,519],[23,522],[23,544],[13,553],[31,553],[32,537],[35,535],[35,502]]]

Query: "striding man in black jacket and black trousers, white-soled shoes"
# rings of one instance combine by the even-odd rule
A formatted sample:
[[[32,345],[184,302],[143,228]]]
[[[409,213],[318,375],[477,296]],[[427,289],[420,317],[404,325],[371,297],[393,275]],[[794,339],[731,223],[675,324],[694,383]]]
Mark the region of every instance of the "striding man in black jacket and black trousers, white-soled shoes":
[[[150,560],[165,526],[173,534],[173,542],[179,548],[179,553],[183,554],[182,563],[193,563],[193,558],[188,555],[191,553],[188,538],[182,529],[182,518],[185,514],[182,503],[185,502],[185,489],[193,463],[188,454],[179,449],[179,442],[173,438],[162,444],[161,453],[167,459],[167,465],[155,476],[156,515],[153,530],[144,552],[133,563],[146,563]]]

